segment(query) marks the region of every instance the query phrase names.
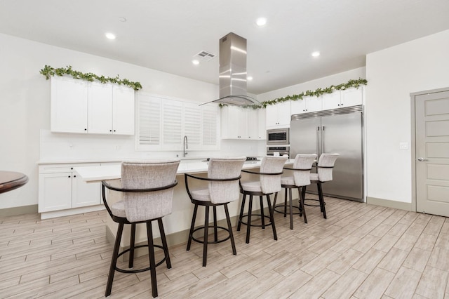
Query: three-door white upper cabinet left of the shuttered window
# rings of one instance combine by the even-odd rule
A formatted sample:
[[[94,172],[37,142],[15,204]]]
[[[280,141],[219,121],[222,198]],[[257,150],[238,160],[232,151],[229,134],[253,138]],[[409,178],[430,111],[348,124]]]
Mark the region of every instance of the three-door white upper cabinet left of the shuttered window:
[[[52,77],[51,131],[133,135],[134,90]]]

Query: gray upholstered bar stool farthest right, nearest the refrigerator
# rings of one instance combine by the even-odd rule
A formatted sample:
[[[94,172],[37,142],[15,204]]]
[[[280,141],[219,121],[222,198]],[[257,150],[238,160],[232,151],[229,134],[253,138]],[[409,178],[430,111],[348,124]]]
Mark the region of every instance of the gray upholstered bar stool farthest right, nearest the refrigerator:
[[[316,184],[316,189],[318,190],[318,201],[321,213],[323,213],[323,218],[327,219],[326,215],[326,203],[324,202],[323,197],[323,188],[321,184],[324,182],[329,182],[333,180],[333,168],[335,165],[335,161],[337,160],[340,154],[321,154],[318,159],[318,164],[316,165],[316,173],[310,173],[310,181],[312,184]],[[302,197],[304,198],[306,194],[306,187],[302,187]],[[314,200],[314,199],[307,199]],[[306,206],[312,206],[307,205]]]

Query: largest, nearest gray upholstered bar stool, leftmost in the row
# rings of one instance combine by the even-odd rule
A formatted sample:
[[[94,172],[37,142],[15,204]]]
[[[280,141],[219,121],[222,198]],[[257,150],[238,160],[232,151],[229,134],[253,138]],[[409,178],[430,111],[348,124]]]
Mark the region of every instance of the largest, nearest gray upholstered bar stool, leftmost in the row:
[[[167,267],[171,268],[162,217],[170,214],[172,210],[173,187],[177,185],[175,178],[179,164],[180,160],[177,159],[123,162],[121,164],[121,187],[114,187],[106,181],[102,182],[102,197],[107,212],[114,222],[119,223],[105,296],[111,295],[115,271],[139,273],[149,270],[152,281],[152,295],[157,297],[156,267],[165,261]],[[123,200],[109,206],[105,188],[123,192]],[[161,232],[162,246],[153,242],[152,222],[155,220],[157,220],[159,231]],[[135,225],[137,223],[145,223],[147,225],[147,245],[135,246]],[[131,225],[130,248],[119,253],[121,235],[125,224]],[[140,247],[148,247],[149,267],[131,270],[133,268],[135,248]],[[164,251],[164,257],[158,263],[156,263],[154,258],[154,247],[161,248]],[[130,270],[121,269],[116,265],[119,256],[127,252],[129,252],[128,267]]]

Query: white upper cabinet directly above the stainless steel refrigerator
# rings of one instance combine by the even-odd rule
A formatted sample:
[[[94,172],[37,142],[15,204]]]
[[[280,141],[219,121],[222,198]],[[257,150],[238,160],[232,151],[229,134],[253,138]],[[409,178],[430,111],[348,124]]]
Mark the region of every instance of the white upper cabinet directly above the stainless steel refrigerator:
[[[363,86],[323,94],[323,110],[363,104]]]

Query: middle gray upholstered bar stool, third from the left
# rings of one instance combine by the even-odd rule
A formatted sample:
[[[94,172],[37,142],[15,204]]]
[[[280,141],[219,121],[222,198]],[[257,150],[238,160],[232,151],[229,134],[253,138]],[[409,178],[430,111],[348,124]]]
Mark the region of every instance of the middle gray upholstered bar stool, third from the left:
[[[240,182],[240,192],[243,194],[243,201],[241,203],[239,224],[237,225],[237,231],[240,231],[242,224],[246,225],[246,244],[250,242],[250,227],[262,227],[271,225],[273,229],[273,237],[278,239],[276,234],[276,225],[274,225],[274,215],[271,201],[269,199],[270,194],[274,195],[274,200],[278,196],[278,192],[281,191],[281,175],[283,173],[283,166],[286,164],[288,157],[264,157],[260,164],[260,171],[246,171],[245,173],[253,173],[259,175],[259,180]],[[245,207],[246,196],[250,196],[248,204],[248,213],[243,215],[243,209]],[[253,196],[258,196],[260,199],[260,214],[253,214]],[[267,197],[269,216],[264,215],[263,197]],[[252,216],[260,216],[262,222],[261,225],[251,223]],[[247,218],[247,222],[243,222],[243,218]],[[265,218],[269,218],[269,222],[265,223]]]

